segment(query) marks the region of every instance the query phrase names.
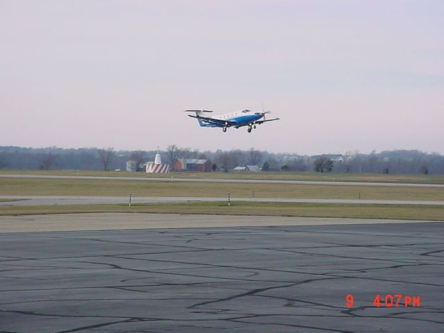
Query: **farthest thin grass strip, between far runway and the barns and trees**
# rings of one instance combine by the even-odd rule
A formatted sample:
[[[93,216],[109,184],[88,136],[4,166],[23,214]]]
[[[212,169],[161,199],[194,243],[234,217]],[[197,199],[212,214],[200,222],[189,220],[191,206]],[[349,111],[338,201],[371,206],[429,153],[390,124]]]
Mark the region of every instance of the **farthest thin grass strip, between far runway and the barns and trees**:
[[[42,176],[107,176],[107,177],[149,177],[149,178],[196,178],[196,179],[246,179],[246,180],[310,180],[331,182],[400,182],[417,184],[444,184],[443,175],[385,175],[382,173],[315,173],[315,172],[248,172],[248,173],[189,173],[172,172],[165,174],[151,174],[126,171],[73,171],[73,170],[0,170],[0,174],[11,175],[42,175]]]

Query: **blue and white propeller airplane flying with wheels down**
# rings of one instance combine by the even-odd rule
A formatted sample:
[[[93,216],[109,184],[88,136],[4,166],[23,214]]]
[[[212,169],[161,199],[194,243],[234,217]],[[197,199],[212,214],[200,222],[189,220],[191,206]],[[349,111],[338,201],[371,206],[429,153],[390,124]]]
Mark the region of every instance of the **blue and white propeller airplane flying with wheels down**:
[[[239,128],[248,126],[248,133],[251,133],[256,125],[265,123],[266,121],[279,120],[279,118],[265,119],[265,114],[270,111],[253,112],[251,110],[241,110],[238,112],[221,114],[214,117],[205,117],[205,113],[213,112],[210,110],[185,110],[185,112],[196,112],[196,115],[189,114],[188,117],[196,118],[202,127],[219,127],[225,133],[227,128],[234,127]]]

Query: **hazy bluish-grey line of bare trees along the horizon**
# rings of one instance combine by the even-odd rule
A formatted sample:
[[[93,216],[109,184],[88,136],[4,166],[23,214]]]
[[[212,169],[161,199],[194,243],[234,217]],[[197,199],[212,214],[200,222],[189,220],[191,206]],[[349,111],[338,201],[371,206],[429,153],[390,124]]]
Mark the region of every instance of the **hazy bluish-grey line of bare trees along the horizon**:
[[[22,148],[0,146],[0,169],[74,169],[126,170],[133,160],[139,170],[153,162],[157,151],[114,151],[112,148]],[[162,161],[170,166],[178,158],[210,160],[214,171],[232,171],[235,167],[257,165],[262,171],[318,171],[339,173],[425,173],[444,174],[444,155],[422,151],[382,151],[370,154],[298,155],[248,151],[198,151],[171,145],[160,151]]]

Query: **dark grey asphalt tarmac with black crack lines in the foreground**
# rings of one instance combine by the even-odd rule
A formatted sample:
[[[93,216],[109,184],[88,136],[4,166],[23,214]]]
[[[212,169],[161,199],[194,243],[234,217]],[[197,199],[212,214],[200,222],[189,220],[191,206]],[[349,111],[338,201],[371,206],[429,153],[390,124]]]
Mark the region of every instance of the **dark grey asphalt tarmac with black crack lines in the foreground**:
[[[0,233],[0,332],[442,332],[443,223],[373,222]]]

